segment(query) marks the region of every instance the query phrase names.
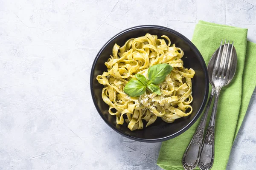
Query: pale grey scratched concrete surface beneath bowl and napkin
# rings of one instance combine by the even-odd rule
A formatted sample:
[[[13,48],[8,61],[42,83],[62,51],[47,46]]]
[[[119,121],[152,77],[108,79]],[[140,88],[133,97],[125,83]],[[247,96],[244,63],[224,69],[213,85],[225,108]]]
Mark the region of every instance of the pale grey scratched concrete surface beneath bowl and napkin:
[[[159,170],[160,143],[128,140],[100,118],[89,73],[102,45],[132,26],[192,38],[205,20],[248,28],[255,0],[0,0],[0,170]],[[256,169],[256,91],[228,170]]]

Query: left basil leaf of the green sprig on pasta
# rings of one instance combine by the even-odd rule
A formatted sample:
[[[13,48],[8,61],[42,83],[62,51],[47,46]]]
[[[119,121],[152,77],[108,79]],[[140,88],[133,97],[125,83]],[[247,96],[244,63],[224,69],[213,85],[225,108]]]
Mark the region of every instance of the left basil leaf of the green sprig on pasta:
[[[135,97],[145,93],[146,85],[139,80],[132,78],[124,87],[124,92],[129,96]]]

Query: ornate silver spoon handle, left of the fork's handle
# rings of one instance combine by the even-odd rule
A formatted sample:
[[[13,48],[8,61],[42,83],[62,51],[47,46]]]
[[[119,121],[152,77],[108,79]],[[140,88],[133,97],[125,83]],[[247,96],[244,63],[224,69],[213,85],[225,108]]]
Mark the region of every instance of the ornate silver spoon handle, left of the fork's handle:
[[[198,164],[202,141],[203,141],[203,136],[204,136],[205,123],[207,120],[209,108],[212,103],[212,98],[213,98],[214,94],[215,94],[215,88],[212,87],[212,92],[211,92],[211,95],[207,102],[207,106],[205,108],[201,122],[198,125],[197,130],[195,131],[195,134],[194,134],[193,138],[191,139],[189,146],[187,147],[187,149],[183,155],[182,164],[183,164],[183,167],[185,170],[192,170]]]

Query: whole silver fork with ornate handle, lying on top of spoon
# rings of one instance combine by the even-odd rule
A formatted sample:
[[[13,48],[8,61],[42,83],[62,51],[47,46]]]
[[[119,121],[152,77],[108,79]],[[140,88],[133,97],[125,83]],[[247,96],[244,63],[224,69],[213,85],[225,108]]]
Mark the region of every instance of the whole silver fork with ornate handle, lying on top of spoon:
[[[218,99],[221,88],[230,83],[233,79],[234,71],[236,71],[236,59],[234,59],[233,54],[233,43],[230,41],[224,45],[221,45],[218,50],[217,59],[215,60],[215,65],[212,71],[212,86],[215,88],[215,100],[212,109],[212,116],[209,122],[209,126],[206,131],[203,146],[201,149],[200,159],[198,166],[201,170],[209,170],[212,168],[214,161],[214,133],[215,133],[215,118],[217,113]],[[223,50],[221,52],[221,48]],[[229,48],[231,46],[231,48]],[[221,55],[220,55],[221,54]],[[229,55],[228,55],[229,54]],[[231,73],[231,74],[230,74]]]

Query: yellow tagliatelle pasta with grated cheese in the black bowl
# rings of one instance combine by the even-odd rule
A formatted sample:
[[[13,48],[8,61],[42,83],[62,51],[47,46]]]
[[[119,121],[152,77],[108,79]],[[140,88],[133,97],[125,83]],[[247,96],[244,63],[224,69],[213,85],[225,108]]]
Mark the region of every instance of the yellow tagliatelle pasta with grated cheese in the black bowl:
[[[108,112],[116,116],[116,123],[128,123],[130,130],[143,129],[155,122],[157,117],[172,123],[175,119],[192,113],[189,105],[192,100],[192,82],[195,71],[183,67],[183,51],[171,45],[170,39],[163,35],[145,34],[143,37],[132,38],[119,47],[113,46],[112,55],[105,62],[108,72],[97,76],[102,89],[102,99],[109,105]],[[123,88],[135,74],[143,74],[148,78],[148,68],[152,65],[168,63],[173,67],[166,79],[159,84],[161,95],[146,90],[138,97],[131,97]],[[127,119],[124,118],[126,115]],[[124,120],[125,119],[125,120]]]

